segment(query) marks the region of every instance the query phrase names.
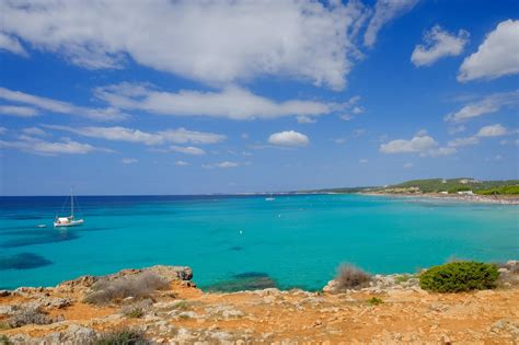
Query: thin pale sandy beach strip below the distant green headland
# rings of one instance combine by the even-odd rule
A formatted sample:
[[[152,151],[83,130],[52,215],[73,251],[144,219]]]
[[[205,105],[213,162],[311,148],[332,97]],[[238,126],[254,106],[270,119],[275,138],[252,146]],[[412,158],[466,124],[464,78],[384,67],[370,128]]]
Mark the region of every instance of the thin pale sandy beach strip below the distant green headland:
[[[506,195],[459,195],[459,194],[440,194],[440,193],[384,193],[384,192],[359,192],[358,195],[368,196],[388,196],[388,197],[403,197],[403,198],[427,198],[436,200],[462,202],[462,203],[483,203],[483,204],[499,204],[499,205],[519,205],[518,196]]]

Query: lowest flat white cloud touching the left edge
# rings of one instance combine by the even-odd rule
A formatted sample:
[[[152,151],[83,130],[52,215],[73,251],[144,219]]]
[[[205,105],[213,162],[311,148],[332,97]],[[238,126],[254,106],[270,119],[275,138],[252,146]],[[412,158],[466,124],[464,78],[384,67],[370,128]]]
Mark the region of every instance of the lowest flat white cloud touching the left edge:
[[[89,143],[81,143],[68,138],[62,141],[50,142],[28,136],[21,136],[19,140],[14,141],[0,140],[0,149],[16,149],[41,156],[85,154],[92,151],[113,152],[108,149],[95,148]]]

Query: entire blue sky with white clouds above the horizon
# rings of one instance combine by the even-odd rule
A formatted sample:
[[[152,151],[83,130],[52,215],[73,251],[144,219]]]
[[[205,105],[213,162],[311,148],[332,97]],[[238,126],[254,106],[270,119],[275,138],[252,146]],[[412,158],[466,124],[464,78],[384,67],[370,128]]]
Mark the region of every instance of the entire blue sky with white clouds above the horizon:
[[[516,0],[0,0],[0,195],[519,179]]]

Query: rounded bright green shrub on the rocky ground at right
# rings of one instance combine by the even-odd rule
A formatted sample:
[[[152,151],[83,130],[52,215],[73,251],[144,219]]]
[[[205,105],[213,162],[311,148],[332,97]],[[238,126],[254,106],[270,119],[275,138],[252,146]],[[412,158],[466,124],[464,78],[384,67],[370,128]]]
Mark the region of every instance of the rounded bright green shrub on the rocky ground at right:
[[[460,292],[496,287],[499,273],[495,264],[453,262],[435,266],[419,275],[424,290]]]

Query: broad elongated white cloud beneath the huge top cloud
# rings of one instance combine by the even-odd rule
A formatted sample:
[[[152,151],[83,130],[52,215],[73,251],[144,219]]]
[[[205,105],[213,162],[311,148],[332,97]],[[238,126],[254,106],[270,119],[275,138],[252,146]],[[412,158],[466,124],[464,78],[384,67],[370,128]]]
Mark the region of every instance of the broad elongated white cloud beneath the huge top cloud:
[[[117,108],[139,110],[161,115],[231,119],[318,116],[344,106],[302,100],[274,102],[240,87],[227,87],[218,92],[181,90],[175,93],[158,91],[149,85],[120,83],[97,88],[95,95]]]

